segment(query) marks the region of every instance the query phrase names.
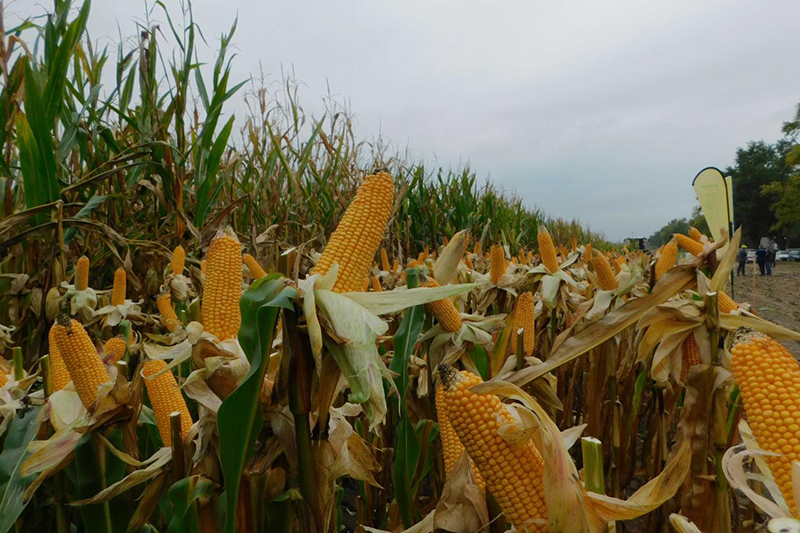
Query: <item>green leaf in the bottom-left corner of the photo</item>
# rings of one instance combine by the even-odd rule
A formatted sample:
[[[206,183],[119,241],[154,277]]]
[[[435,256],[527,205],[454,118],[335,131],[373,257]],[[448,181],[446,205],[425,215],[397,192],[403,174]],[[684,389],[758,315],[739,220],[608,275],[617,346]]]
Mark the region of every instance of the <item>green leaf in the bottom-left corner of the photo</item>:
[[[36,437],[39,424],[36,417],[39,407],[17,416],[11,421],[0,454],[0,533],[6,533],[14,526],[17,517],[28,502],[23,501],[22,493],[30,486],[36,474],[27,477],[20,475],[20,467],[30,454],[26,452],[28,443]]]

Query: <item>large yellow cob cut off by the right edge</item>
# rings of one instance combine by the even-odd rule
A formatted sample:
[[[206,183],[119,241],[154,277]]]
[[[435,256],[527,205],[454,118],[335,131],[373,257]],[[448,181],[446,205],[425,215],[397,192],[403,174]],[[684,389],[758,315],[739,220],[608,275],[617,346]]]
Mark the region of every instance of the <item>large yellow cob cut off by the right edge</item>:
[[[792,514],[792,463],[800,461],[800,365],[774,339],[740,330],[731,349],[733,376],[744,399],[747,420]]]

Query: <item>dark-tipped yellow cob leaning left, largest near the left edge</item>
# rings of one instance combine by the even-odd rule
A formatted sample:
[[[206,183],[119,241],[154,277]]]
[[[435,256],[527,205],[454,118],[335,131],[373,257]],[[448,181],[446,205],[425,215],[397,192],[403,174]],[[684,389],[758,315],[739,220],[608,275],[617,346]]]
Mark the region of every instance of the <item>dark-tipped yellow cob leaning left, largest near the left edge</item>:
[[[53,325],[58,352],[69,371],[83,406],[89,409],[97,399],[97,388],[109,379],[105,365],[97,355],[89,334],[77,320],[59,315]]]

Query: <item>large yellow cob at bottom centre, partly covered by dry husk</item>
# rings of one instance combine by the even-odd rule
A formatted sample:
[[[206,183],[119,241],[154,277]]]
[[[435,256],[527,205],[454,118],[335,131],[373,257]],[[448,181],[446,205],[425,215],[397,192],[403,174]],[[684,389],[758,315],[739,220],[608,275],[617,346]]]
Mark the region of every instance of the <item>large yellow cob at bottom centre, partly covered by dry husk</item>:
[[[458,440],[478,466],[505,519],[518,530],[547,530],[542,456],[528,441],[514,450],[498,435],[500,426],[513,424],[508,408],[493,394],[475,394],[469,388],[481,378],[439,365],[448,416]],[[541,521],[541,523],[540,523]]]

